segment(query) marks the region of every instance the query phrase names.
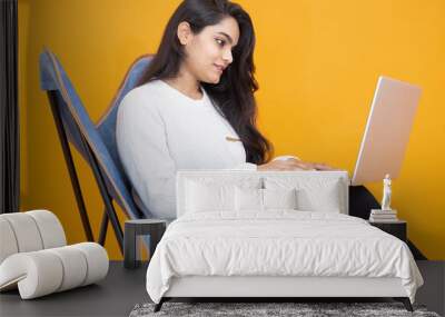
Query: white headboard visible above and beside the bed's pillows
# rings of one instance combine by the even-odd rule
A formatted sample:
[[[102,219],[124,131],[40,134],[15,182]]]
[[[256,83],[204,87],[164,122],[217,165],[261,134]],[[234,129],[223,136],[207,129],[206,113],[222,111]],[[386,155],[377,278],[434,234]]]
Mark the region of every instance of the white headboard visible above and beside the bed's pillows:
[[[237,185],[255,188],[280,189],[295,187],[304,189],[310,199],[329,199],[335,196],[339,212],[348,215],[347,171],[253,171],[253,170],[179,170],[176,178],[177,217],[186,212],[187,186],[191,181],[205,185]]]

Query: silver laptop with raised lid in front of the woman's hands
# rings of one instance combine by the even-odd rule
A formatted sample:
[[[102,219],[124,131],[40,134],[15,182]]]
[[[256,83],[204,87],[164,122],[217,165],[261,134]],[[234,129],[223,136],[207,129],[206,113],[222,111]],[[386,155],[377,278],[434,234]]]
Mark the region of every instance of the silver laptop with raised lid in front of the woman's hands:
[[[421,88],[388,77],[379,77],[366,122],[350,184],[382,181],[388,174],[398,177]]]

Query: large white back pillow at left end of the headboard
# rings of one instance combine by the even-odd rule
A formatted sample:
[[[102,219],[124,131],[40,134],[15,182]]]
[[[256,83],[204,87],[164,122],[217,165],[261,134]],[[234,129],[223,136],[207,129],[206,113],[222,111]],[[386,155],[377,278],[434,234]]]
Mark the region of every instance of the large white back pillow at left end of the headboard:
[[[235,209],[235,186],[187,181],[186,212]]]

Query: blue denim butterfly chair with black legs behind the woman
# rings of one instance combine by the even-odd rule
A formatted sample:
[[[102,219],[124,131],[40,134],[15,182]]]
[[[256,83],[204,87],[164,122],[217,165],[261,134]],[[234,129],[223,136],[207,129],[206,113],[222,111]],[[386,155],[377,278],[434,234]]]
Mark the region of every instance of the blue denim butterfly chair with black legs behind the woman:
[[[121,99],[137,85],[150,60],[151,57],[144,56],[130,67],[109,109],[96,126],[57,57],[47,49],[40,55],[40,86],[48,95],[87,239],[95,240],[68,142],[91,167],[105,204],[98,242],[103,246],[110,220],[121,254],[123,234],[112,200],[130,219],[151,218],[151,214],[141,205],[138,207],[131,196],[131,185],[116,147],[116,117]]]

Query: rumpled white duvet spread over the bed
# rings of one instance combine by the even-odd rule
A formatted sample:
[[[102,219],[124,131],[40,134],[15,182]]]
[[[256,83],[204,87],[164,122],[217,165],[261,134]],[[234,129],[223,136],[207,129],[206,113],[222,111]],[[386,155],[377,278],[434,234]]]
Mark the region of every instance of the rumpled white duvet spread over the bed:
[[[150,298],[184,276],[398,277],[412,303],[423,284],[399,239],[356,217],[295,210],[180,217],[148,267]]]

